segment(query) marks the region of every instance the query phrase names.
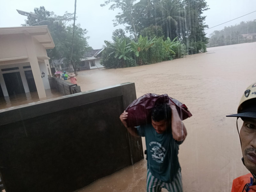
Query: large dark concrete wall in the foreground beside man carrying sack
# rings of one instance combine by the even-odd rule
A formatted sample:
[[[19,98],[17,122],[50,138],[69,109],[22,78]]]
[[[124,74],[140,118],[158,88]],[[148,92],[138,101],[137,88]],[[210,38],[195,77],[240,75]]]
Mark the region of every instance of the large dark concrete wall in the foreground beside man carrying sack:
[[[119,120],[134,99],[126,83],[0,110],[6,191],[71,192],[141,160],[141,138]]]

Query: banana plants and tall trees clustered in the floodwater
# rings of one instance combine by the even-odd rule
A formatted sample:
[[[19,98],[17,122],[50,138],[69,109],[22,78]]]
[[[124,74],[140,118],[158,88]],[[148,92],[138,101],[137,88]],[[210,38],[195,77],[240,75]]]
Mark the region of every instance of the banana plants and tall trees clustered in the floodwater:
[[[206,52],[205,0],[108,0],[101,6],[122,10],[113,42],[105,41],[101,64],[106,68],[151,64]],[[126,33],[132,34],[130,37]]]

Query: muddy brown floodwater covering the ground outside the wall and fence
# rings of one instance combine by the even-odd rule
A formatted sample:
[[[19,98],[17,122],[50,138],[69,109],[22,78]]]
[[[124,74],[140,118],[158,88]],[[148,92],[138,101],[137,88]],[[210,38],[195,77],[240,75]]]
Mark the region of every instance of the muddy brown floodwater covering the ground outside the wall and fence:
[[[184,121],[188,136],[179,150],[184,191],[229,192],[232,180],[249,171],[241,161],[236,119],[225,116],[236,112],[245,89],[256,81],[255,60],[256,43],[212,47],[146,66],[80,71],[77,83],[87,91],[134,82],[137,97],[167,93],[186,104],[193,116]],[[142,160],[79,192],[146,191],[146,164]]]

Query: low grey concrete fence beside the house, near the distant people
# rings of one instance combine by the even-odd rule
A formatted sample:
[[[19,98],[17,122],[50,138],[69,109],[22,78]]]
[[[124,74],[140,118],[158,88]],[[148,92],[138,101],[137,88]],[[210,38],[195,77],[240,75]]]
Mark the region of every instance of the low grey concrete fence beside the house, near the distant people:
[[[57,77],[48,77],[48,80],[51,89],[56,88],[63,95],[70,95],[81,92],[80,86],[77,86],[77,84],[72,84],[66,80],[59,79]]]

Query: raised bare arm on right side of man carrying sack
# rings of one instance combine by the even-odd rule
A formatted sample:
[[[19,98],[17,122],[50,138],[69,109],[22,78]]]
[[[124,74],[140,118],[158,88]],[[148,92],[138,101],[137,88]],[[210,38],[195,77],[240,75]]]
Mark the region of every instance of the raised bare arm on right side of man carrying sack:
[[[170,104],[171,107],[171,131],[172,137],[176,141],[184,141],[187,136],[187,130],[185,125],[180,119],[177,109],[174,104]]]

